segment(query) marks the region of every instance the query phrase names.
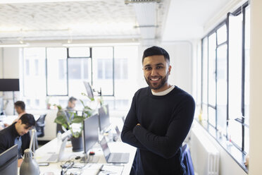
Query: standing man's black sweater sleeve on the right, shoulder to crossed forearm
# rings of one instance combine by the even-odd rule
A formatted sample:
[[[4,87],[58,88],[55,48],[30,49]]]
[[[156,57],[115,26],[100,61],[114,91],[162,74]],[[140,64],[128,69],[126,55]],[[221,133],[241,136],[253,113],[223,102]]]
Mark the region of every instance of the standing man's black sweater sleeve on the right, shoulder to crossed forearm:
[[[135,126],[133,130],[135,138],[147,150],[154,152],[156,155],[166,159],[173,157],[189,132],[194,119],[194,108],[194,99],[189,96],[184,102],[180,103],[179,111],[175,114],[173,121],[167,126],[166,135],[156,135],[146,131],[143,126]]]

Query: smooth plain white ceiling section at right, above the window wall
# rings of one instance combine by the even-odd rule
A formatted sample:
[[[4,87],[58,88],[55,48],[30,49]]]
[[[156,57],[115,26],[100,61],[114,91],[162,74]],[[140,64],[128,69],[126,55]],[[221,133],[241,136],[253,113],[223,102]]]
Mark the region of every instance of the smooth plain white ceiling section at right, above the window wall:
[[[172,0],[162,40],[192,40],[203,37],[204,25],[230,1],[236,0]],[[226,13],[225,13],[226,17]]]

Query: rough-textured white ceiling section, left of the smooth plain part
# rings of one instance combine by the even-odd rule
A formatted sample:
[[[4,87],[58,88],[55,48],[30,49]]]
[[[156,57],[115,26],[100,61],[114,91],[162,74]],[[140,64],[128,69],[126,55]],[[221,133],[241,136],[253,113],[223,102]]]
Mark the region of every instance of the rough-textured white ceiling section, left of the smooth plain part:
[[[24,0],[25,1],[25,0]],[[50,0],[49,0],[50,1]],[[28,2],[28,1],[27,1]],[[155,36],[161,33],[165,1],[156,4]],[[151,18],[148,16],[148,18]],[[142,25],[124,0],[0,4],[0,40],[139,39]],[[135,28],[136,27],[136,28]]]

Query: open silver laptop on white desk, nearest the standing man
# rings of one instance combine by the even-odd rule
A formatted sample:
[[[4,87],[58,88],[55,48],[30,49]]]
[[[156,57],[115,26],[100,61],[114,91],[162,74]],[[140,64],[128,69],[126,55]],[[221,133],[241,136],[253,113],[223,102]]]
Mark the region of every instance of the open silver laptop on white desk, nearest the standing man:
[[[110,152],[105,137],[101,140],[100,145],[104,152],[104,156],[106,158],[107,163],[124,163],[125,164],[129,161],[129,153]]]

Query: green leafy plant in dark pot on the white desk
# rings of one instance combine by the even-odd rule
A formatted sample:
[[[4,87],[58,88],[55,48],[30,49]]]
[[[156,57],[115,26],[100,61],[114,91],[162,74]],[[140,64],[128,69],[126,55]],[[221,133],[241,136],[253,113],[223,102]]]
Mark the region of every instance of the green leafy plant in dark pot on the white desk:
[[[91,99],[94,101],[94,99]],[[66,114],[66,110],[62,109],[60,105],[56,105],[58,107],[58,113],[55,119],[55,123],[61,124],[64,128],[70,130],[72,134],[71,143],[73,146],[73,151],[82,151],[82,122],[87,119],[89,116],[92,116],[94,113],[94,109],[91,109],[80,99],[80,102],[83,105],[82,115],[77,115],[76,111],[67,111],[69,114],[69,118]],[[76,123],[76,124],[75,124]]]

